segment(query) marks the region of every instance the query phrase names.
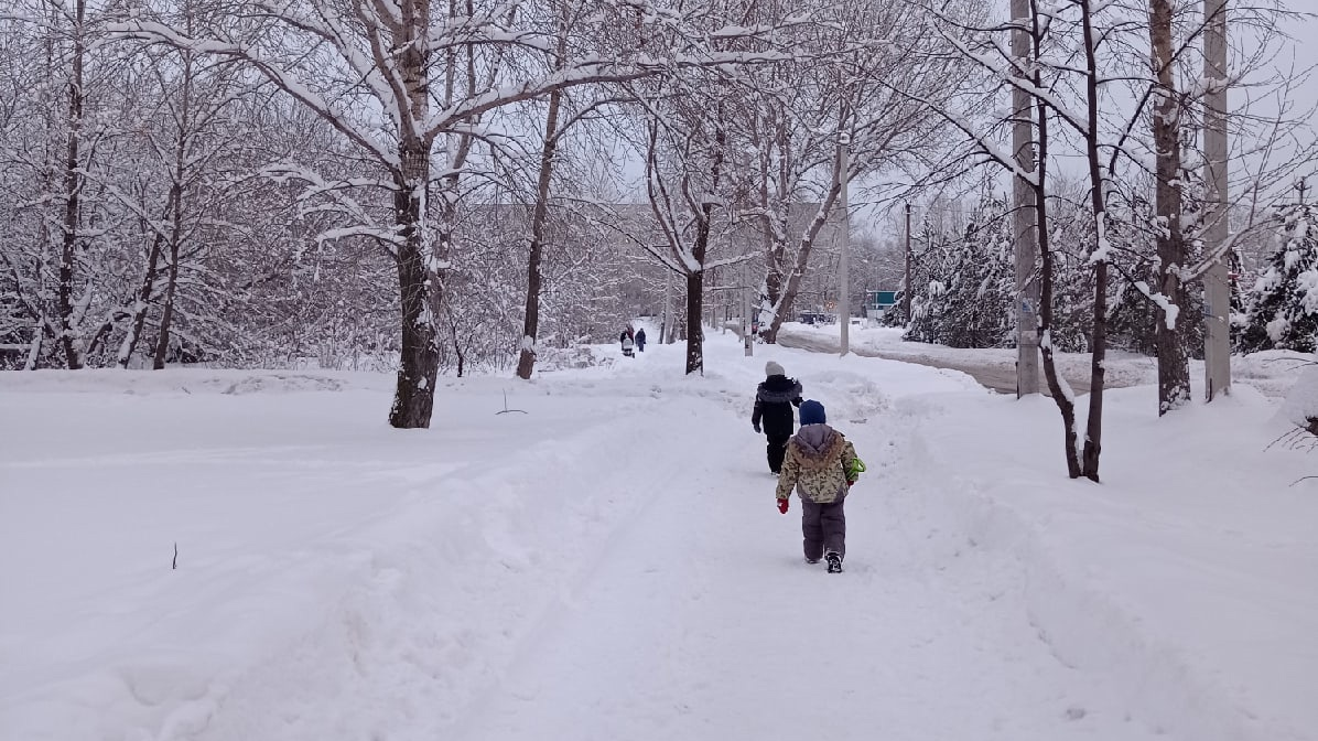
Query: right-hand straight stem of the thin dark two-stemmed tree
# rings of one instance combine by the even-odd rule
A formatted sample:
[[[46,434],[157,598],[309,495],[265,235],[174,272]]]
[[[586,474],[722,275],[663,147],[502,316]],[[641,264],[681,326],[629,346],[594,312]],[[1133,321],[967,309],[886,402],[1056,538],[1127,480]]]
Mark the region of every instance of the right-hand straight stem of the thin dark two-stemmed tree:
[[[1098,459],[1103,451],[1103,384],[1107,376],[1107,194],[1102,161],[1098,158],[1098,40],[1094,37],[1094,11],[1090,0],[1081,0],[1085,32],[1085,94],[1089,102],[1089,136],[1085,141],[1089,160],[1090,206],[1094,211],[1094,334],[1090,351],[1089,418],[1085,421],[1083,475],[1098,481]]]

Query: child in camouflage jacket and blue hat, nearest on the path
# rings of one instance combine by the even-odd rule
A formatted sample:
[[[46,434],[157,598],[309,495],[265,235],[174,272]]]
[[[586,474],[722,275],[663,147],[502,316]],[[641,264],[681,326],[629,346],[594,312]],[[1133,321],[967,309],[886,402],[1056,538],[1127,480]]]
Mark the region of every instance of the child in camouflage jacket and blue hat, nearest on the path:
[[[801,497],[801,541],[805,563],[828,562],[828,572],[842,571],[846,558],[846,494],[861,477],[865,463],[842,432],[829,427],[824,405],[801,405],[801,430],[792,435],[778,477],[778,512],[787,514],[792,489]]]

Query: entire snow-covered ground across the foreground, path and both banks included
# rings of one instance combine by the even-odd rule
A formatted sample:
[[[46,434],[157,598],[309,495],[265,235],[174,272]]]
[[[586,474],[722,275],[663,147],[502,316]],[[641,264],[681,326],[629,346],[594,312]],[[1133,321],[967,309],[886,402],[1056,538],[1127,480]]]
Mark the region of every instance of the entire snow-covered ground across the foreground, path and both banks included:
[[[1045,398],[683,353],[442,378],[427,431],[380,374],[0,373],[0,740],[1318,738],[1293,370],[1108,392],[1095,485]],[[766,360],[869,464],[845,574],[774,506]]]

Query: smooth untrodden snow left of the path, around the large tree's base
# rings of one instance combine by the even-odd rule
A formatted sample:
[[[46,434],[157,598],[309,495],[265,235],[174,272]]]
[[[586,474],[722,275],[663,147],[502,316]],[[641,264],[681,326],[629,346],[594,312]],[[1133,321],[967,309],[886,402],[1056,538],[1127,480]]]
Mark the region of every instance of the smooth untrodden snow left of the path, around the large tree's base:
[[[507,381],[449,381],[432,430],[395,431],[387,393],[326,398],[326,378],[343,380],[4,377],[22,393],[0,394],[0,417],[25,423],[0,439],[0,592],[22,605],[0,612],[0,736],[365,738],[451,720],[580,578],[592,535],[651,504],[601,465],[643,447],[600,425],[627,396],[583,409],[571,388],[523,385],[510,406],[527,414],[496,414]]]

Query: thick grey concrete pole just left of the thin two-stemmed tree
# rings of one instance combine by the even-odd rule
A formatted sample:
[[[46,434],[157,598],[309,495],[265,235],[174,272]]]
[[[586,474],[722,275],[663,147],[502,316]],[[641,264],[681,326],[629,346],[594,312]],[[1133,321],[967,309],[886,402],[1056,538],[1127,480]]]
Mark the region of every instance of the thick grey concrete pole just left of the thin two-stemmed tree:
[[[1029,0],[1011,0],[1011,55],[1021,67],[1029,63]],[[1017,76],[1024,76],[1016,73]],[[1011,145],[1016,166],[1035,171],[1035,127],[1032,100],[1023,90],[1011,94]],[[1020,178],[1011,178],[1012,231],[1016,254],[1016,398],[1039,393],[1039,281],[1035,262],[1039,254],[1039,222],[1035,191]]]

